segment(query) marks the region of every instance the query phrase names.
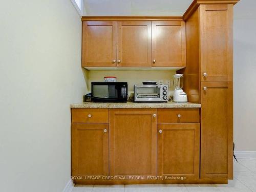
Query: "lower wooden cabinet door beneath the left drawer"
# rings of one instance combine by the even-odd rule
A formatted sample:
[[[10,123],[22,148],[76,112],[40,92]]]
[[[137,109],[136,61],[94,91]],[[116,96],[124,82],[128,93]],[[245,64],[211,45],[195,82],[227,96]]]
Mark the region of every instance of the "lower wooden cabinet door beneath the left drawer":
[[[72,176],[109,175],[109,124],[72,124]]]

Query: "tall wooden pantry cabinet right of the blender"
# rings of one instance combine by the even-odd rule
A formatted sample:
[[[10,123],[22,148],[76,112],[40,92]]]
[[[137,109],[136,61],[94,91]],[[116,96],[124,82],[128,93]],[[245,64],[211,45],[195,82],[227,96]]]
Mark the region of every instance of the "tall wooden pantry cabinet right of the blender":
[[[238,1],[203,2],[185,13],[187,67],[179,73],[188,100],[202,104],[200,177],[232,179],[233,4]]]

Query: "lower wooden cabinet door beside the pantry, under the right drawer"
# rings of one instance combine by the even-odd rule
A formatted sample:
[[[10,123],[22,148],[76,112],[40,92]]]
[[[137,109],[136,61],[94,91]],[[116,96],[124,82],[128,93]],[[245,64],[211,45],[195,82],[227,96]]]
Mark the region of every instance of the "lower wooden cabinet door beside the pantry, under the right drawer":
[[[199,123],[157,125],[157,175],[199,179]]]

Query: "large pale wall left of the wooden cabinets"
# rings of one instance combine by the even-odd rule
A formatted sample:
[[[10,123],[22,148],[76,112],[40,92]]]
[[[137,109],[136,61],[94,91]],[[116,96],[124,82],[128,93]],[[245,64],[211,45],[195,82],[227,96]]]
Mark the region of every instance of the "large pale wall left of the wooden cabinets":
[[[62,191],[70,109],[86,93],[70,0],[1,1],[0,191]]]

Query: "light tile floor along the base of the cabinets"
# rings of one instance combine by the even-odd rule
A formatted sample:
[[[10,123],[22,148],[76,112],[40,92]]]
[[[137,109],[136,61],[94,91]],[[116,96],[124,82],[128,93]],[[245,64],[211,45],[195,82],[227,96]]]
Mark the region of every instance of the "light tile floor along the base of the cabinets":
[[[145,184],[145,185],[76,185],[72,192],[200,192],[230,191],[256,192],[256,159],[234,161],[234,180],[226,185],[219,184]]]

